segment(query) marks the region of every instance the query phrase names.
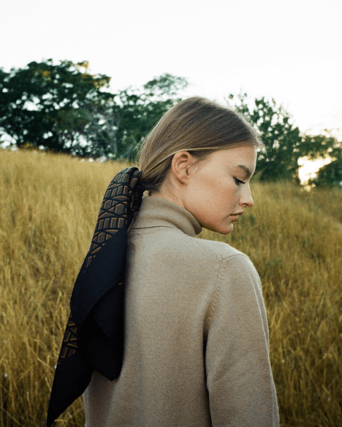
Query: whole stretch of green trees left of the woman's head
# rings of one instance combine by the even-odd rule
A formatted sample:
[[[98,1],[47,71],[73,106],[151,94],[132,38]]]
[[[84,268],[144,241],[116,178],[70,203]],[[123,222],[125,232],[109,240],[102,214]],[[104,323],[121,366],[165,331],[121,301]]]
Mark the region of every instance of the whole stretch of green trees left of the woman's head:
[[[31,62],[0,70],[0,133],[80,156],[130,158],[161,115],[180,99],[182,77],[163,74],[142,88],[112,94],[110,77],[88,74],[88,62]]]

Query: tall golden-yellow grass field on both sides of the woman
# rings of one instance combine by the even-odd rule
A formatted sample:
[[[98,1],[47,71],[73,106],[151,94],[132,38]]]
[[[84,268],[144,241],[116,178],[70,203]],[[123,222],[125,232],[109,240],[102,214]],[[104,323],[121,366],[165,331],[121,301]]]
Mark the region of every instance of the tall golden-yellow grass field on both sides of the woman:
[[[69,296],[126,165],[0,150],[0,427],[44,426]],[[282,427],[342,425],[342,189],[251,185],[232,234],[262,279]],[[81,400],[56,426],[83,426]],[[256,426],[257,427],[257,426]]]

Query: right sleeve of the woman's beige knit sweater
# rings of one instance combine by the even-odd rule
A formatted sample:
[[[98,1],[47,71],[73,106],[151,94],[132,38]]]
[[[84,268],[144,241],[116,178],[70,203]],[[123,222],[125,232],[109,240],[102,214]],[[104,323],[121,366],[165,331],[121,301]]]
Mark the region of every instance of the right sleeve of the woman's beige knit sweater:
[[[213,427],[279,426],[259,275],[242,254],[222,260],[206,319]]]

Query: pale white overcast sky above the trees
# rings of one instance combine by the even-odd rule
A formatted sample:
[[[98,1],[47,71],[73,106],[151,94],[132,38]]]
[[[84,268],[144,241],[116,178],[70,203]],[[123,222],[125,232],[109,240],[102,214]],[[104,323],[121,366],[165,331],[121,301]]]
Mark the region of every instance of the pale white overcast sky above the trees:
[[[88,60],[111,90],[170,73],[183,93],[275,98],[301,131],[342,127],[341,0],[3,0],[0,67]]]

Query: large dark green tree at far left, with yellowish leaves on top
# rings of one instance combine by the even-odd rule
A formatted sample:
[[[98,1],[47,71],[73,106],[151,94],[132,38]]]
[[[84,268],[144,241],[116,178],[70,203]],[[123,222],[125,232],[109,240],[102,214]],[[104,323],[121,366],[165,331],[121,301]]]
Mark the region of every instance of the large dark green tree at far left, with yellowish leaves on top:
[[[114,97],[103,91],[110,77],[87,70],[86,61],[54,65],[52,59],[9,73],[1,70],[1,133],[10,135],[19,147],[27,143],[55,151],[81,151],[87,146],[80,136],[89,111],[103,109]]]

